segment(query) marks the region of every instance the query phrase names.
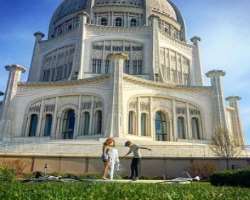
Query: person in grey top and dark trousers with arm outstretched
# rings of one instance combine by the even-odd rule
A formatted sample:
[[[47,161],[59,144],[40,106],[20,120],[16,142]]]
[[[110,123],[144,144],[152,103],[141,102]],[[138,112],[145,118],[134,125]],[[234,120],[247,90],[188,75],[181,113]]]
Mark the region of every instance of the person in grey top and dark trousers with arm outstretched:
[[[148,151],[152,151],[152,150],[150,148],[141,147],[141,146],[138,146],[136,144],[133,144],[131,141],[125,142],[125,147],[129,148],[129,152],[124,157],[126,157],[129,154],[133,153],[133,159],[132,159],[131,166],[130,166],[130,169],[131,169],[130,179],[136,181],[140,177],[139,172],[140,172],[141,157],[142,157],[140,149],[145,149],[145,150],[148,150]]]

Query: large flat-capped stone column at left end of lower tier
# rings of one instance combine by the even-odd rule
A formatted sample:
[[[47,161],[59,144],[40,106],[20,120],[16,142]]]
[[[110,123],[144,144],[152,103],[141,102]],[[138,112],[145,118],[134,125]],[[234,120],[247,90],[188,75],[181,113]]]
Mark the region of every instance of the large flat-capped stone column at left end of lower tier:
[[[21,80],[21,74],[25,68],[21,65],[8,65],[5,69],[9,72],[9,78],[3,100],[2,115],[0,119],[0,139],[11,137],[11,101],[15,97],[18,88],[18,82]]]

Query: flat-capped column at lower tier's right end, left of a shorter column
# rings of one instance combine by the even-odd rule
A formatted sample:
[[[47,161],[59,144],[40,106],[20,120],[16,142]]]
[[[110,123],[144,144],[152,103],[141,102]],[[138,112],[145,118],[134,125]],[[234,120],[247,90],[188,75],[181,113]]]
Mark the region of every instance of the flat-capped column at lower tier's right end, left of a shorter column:
[[[214,122],[217,128],[227,128],[224,90],[221,83],[221,77],[225,76],[225,74],[222,70],[212,70],[206,73],[206,76],[211,79],[214,101]]]

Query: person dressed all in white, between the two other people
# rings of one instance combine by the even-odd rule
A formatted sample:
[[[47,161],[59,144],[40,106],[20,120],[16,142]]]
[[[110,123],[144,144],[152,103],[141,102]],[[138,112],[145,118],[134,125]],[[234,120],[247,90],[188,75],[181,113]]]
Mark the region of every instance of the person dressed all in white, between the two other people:
[[[118,150],[115,148],[115,144],[113,145],[112,148],[110,148],[108,152],[108,157],[110,164],[109,176],[110,180],[113,180],[115,170],[118,171],[120,167],[119,153]]]

